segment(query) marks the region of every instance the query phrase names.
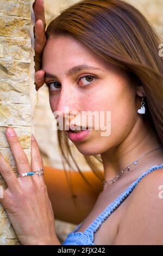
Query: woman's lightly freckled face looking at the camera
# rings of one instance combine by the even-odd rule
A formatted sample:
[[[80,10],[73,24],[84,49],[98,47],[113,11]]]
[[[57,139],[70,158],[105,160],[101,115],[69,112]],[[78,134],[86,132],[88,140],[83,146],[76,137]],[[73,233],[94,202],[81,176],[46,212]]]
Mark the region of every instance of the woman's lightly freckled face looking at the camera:
[[[80,67],[72,70],[77,66]],[[46,72],[46,84],[49,84],[52,112],[61,113],[66,125],[90,127],[82,141],[72,141],[80,153],[102,154],[129,136],[139,118],[137,109],[141,101],[136,95],[136,86],[124,70],[106,62],[68,35],[48,39],[42,69]],[[88,111],[91,114],[85,115]],[[76,115],[68,118],[67,114],[74,113]],[[87,119],[83,125],[84,116]],[[102,124],[106,127],[106,136],[103,136]]]

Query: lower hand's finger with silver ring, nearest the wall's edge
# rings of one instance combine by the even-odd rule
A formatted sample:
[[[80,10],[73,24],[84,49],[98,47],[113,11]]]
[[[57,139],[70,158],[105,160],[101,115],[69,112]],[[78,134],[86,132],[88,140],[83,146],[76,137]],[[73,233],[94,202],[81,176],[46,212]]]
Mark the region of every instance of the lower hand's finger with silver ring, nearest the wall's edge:
[[[40,155],[40,150],[39,150],[39,147],[37,145],[34,135],[32,135],[32,138],[31,138],[31,148],[32,148],[31,149],[31,158],[32,158],[31,166],[32,166],[32,170],[36,171],[40,168],[43,168],[43,161],[42,161],[42,157]],[[34,179],[36,178],[36,176],[39,176],[39,178],[41,178],[41,176],[42,176],[42,178],[43,178],[43,175],[37,175],[37,174],[35,173],[35,175],[33,176]],[[40,180],[38,180],[38,181],[40,182]]]

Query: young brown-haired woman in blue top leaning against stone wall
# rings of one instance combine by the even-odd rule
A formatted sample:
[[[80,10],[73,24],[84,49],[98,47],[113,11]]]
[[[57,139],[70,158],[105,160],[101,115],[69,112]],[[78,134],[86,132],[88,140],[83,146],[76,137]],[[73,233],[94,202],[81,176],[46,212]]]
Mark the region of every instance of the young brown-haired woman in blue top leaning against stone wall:
[[[44,82],[47,84],[52,112],[58,111],[68,129],[70,124],[80,130],[83,127],[77,115],[72,117],[73,111],[79,114],[109,111],[111,130],[108,136],[102,136],[102,129],[96,130],[93,122],[89,131],[80,131],[78,135],[66,129],[59,131],[65,158],[64,148],[70,138],[90,166],[89,156],[100,154],[104,168],[104,186],[101,190],[98,184],[96,203],[97,193],[92,192],[87,199],[88,190],[85,192],[83,186],[82,191],[76,176],[76,187],[83,193],[81,201],[77,197],[77,206],[84,200],[89,204],[90,200],[90,208],[83,214],[84,207],[77,207],[81,214],[74,221],[67,217],[74,216],[77,210],[71,208],[72,200],[66,194],[68,189],[63,186],[62,174],[57,180],[52,170],[45,174],[51,199],[55,198],[53,216],[42,175],[36,175],[43,165],[34,137],[30,168],[14,130],[7,130],[20,176],[17,178],[11,172],[1,155],[1,174],[8,184],[1,202],[18,239],[23,245],[59,245],[55,233],[56,211],[60,219],[79,224],[63,245],[161,245],[163,63],[159,57],[160,39],[138,10],[118,0],[85,0],[74,4],[52,20],[45,37],[42,4],[41,0],[35,2],[36,88]],[[106,115],[104,121],[105,125],[109,124]],[[24,176],[29,169],[35,174]],[[54,194],[57,189],[58,197]],[[65,204],[62,212],[55,208],[59,206],[57,198],[64,202],[60,205]]]

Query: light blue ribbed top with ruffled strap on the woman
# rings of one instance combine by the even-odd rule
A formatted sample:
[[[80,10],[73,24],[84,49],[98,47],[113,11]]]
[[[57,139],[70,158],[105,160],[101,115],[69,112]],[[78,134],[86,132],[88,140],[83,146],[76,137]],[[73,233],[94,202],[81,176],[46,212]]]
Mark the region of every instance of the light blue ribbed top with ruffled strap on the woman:
[[[120,205],[125,198],[134,190],[137,183],[148,173],[151,173],[153,170],[163,168],[163,163],[160,165],[153,166],[149,168],[146,172],[144,172],[139,178],[137,178],[130,186],[124,190],[111,204],[107,206],[107,208],[85,229],[84,232],[80,232],[76,230],[82,225],[80,223],[70,234],[67,235],[66,240],[62,243],[62,245],[95,245],[93,243],[94,234],[102,225],[102,223],[108,218],[111,213]]]

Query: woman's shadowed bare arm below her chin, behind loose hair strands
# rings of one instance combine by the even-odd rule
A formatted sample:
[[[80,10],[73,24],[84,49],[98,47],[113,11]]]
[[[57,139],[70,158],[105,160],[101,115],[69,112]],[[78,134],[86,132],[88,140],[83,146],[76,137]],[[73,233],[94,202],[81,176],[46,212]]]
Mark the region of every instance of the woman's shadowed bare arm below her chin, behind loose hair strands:
[[[102,181],[100,181],[92,171],[83,172],[86,180],[93,186],[91,189],[79,172],[67,172],[68,177],[71,172],[73,194],[77,196],[76,199],[74,199],[77,206],[76,208],[65,171],[52,167],[44,168],[44,178],[55,218],[73,224],[82,222],[93,208],[99,193],[102,191]]]

